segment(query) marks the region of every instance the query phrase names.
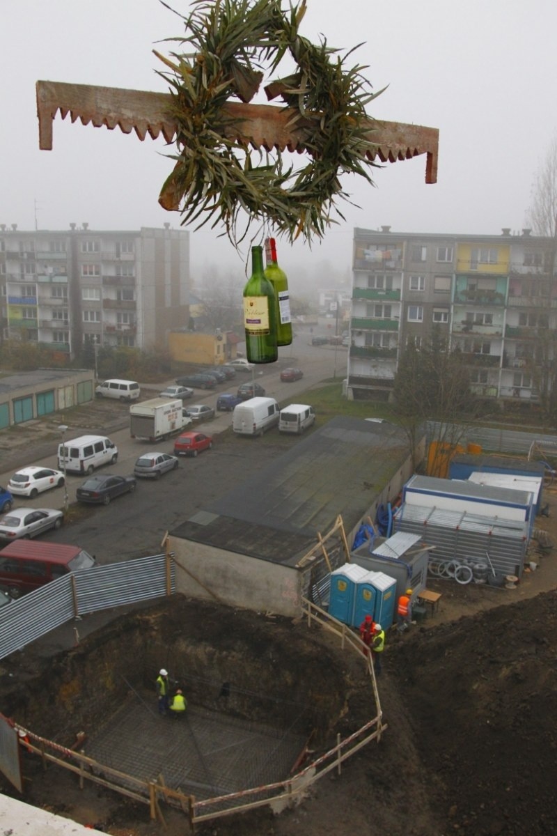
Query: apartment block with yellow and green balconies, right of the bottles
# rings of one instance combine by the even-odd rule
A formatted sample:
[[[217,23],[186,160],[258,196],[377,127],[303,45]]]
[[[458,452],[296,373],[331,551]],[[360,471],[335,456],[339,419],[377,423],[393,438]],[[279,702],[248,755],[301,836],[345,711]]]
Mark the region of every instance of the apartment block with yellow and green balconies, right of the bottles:
[[[539,400],[557,327],[554,241],[355,229],[347,395],[389,399],[400,352],[438,329],[484,398]]]

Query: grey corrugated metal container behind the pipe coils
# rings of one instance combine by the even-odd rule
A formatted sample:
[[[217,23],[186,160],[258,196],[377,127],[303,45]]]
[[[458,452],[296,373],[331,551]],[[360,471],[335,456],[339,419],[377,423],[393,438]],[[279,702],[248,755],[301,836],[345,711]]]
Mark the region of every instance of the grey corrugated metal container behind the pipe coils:
[[[502,575],[520,577],[523,572],[528,523],[405,504],[397,511],[394,526],[435,546],[435,559],[491,562]]]

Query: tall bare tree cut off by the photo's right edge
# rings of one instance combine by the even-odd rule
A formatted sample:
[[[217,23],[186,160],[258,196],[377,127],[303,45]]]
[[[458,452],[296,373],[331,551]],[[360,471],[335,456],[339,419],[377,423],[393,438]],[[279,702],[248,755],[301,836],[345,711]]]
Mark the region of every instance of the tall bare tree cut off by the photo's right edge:
[[[551,140],[534,178],[532,202],[527,214],[534,234],[544,237],[544,283],[546,293],[539,296],[546,312],[557,298],[557,136]],[[542,277],[540,277],[542,278]],[[549,314],[551,315],[551,314]],[[546,419],[557,425],[557,332],[554,323],[539,329],[532,359],[532,375],[539,391],[539,400]]]

